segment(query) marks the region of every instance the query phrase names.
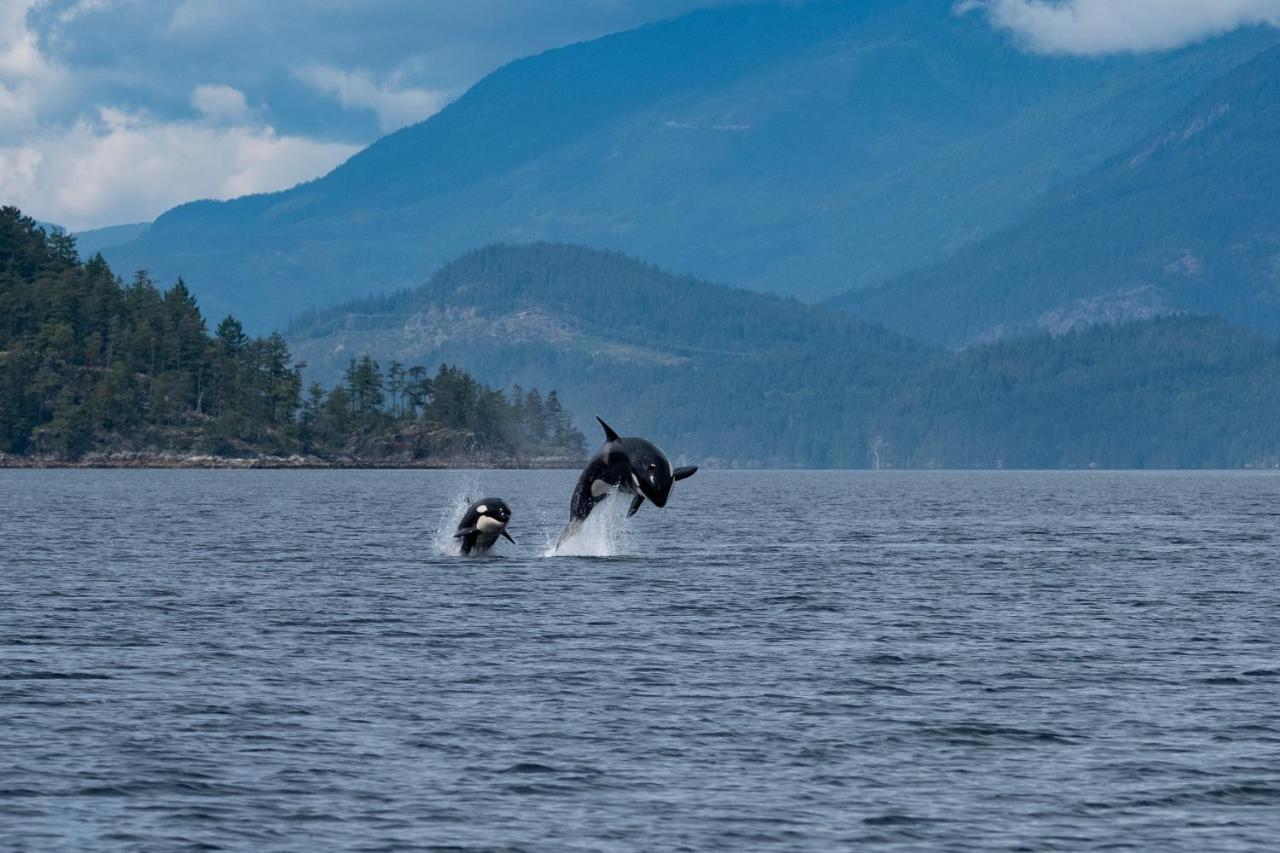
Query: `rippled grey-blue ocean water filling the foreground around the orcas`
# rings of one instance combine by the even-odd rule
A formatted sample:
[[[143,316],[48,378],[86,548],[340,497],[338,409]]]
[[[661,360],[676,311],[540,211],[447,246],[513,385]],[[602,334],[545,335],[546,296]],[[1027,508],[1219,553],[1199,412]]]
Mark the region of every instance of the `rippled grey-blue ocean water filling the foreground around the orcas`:
[[[1280,476],[573,480],[0,471],[0,849],[1277,843]]]

